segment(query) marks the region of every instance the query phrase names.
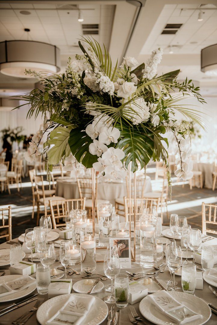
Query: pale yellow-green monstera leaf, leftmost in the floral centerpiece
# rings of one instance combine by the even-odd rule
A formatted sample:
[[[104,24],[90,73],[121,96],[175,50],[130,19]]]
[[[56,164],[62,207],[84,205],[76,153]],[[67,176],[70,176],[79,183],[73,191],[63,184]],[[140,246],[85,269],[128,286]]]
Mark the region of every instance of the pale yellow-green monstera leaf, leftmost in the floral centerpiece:
[[[70,147],[68,145],[69,134],[70,127],[58,126],[51,131],[48,143],[54,146],[47,152],[50,165],[56,165],[62,157],[68,157],[70,155]]]

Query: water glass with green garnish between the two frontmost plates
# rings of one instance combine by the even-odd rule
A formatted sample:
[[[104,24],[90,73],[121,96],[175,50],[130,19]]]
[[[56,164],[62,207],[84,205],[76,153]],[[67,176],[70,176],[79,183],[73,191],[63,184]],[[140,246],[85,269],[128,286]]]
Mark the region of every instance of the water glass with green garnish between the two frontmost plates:
[[[126,307],[130,298],[129,278],[127,274],[116,274],[114,289],[116,306],[118,308]]]

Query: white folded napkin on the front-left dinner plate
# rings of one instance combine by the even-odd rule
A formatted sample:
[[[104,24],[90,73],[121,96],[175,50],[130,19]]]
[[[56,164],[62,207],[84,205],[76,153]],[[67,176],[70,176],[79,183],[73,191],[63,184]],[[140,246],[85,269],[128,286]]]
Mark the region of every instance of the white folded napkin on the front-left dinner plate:
[[[66,323],[80,325],[83,323],[94,301],[95,297],[92,296],[85,298],[71,294],[65,305],[46,324],[62,325]]]

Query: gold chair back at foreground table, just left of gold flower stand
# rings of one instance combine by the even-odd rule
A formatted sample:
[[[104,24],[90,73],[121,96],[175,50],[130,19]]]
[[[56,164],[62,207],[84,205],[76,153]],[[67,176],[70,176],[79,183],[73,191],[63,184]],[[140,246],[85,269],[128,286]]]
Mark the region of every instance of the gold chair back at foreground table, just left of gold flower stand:
[[[66,226],[65,217],[66,211],[73,209],[83,209],[85,210],[85,198],[83,199],[69,199],[64,201],[49,201],[50,212],[51,212],[51,220],[53,229],[57,229],[57,227]],[[61,219],[61,223],[59,223],[59,219]],[[56,222],[57,220],[57,222]]]

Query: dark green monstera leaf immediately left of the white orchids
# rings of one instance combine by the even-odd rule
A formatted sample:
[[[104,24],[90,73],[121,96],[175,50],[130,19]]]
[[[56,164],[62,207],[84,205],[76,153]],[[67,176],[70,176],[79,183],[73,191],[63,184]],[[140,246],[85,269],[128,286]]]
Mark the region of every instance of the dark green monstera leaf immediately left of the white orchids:
[[[97,162],[97,156],[89,152],[89,145],[93,142],[85,131],[72,129],[69,136],[69,146],[72,154],[77,161],[81,162],[86,168],[93,167],[93,163]]]

